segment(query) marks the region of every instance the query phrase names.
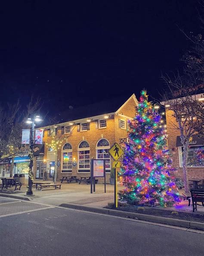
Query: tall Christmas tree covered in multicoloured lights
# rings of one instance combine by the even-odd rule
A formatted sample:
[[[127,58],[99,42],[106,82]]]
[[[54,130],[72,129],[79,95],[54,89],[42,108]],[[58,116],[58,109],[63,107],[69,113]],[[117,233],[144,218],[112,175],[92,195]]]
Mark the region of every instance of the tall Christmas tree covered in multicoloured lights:
[[[128,143],[121,169],[126,187],[121,200],[132,205],[166,206],[179,202],[173,182],[171,160],[167,150],[167,134],[161,116],[142,91],[136,116],[129,122]]]

